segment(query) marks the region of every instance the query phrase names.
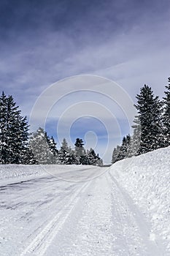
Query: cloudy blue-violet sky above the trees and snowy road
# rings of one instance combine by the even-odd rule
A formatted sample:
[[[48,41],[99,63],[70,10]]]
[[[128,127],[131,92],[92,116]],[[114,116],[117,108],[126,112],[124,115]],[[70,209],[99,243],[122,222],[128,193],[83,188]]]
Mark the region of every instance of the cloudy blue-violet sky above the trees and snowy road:
[[[163,97],[169,28],[169,0],[1,0],[0,92],[12,94],[32,130],[45,125],[58,146],[81,137],[109,163],[140,88]]]

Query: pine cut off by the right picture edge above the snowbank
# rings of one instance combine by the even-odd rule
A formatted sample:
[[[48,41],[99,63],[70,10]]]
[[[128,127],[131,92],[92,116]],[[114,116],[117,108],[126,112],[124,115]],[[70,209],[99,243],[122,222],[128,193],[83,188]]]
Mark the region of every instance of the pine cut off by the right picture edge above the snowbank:
[[[163,138],[164,145],[170,146],[170,78],[168,78],[169,85],[166,86],[165,97],[163,97]]]

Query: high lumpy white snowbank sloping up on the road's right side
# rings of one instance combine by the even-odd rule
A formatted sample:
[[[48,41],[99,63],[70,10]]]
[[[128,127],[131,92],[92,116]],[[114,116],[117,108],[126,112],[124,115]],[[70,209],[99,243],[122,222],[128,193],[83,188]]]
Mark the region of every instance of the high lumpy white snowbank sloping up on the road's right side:
[[[111,173],[150,223],[150,239],[170,255],[170,147],[112,165]]]

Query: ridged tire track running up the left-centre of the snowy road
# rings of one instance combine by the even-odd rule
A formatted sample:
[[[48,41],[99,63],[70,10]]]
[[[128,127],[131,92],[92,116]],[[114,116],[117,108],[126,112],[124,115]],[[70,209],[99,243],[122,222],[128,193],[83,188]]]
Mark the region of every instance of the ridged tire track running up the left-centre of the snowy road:
[[[77,202],[80,200],[78,195],[88,188],[90,182],[91,181],[89,181],[88,184],[83,184],[83,186],[77,192],[75,192],[72,197],[70,197],[69,203],[67,203],[66,206],[64,206],[63,209],[58,212],[58,214],[55,215],[50,222],[48,222],[43,230],[36,236],[36,238],[34,238],[31,244],[29,244],[26,249],[23,250],[20,256],[28,254],[42,256],[45,254],[48,246],[50,246],[52,243],[53,238],[55,238],[59,230],[61,230],[63,224],[66,222],[66,219],[69,217],[69,214],[71,214],[72,210],[74,209],[74,206],[76,206]]]

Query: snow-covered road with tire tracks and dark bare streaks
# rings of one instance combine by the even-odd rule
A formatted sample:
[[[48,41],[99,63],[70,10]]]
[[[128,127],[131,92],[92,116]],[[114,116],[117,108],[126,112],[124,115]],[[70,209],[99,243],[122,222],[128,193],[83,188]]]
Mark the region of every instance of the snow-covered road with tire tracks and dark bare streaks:
[[[168,255],[109,168],[59,169],[2,182],[0,255]]]

